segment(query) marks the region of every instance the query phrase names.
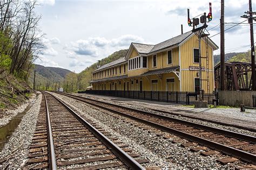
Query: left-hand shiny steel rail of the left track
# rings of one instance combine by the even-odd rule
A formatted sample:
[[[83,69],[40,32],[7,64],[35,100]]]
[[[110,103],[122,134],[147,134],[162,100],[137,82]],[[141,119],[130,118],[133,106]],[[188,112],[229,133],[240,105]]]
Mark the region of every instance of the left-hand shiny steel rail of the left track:
[[[41,91],[42,92],[42,91]],[[45,108],[46,108],[46,122],[47,122],[47,129],[48,129],[48,143],[49,145],[49,169],[57,169],[57,164],[56,164],[56,155],[55,155],[55,150],[54,150],[54,143],[53,143],[53,138],[52,138],[52,129],[51,129],[51,121],[50,121],[50,114],[49,114],[49,109],[48,109],[48,103],[46,100],[46,96],[44,93],[44,101],[45,101]]]

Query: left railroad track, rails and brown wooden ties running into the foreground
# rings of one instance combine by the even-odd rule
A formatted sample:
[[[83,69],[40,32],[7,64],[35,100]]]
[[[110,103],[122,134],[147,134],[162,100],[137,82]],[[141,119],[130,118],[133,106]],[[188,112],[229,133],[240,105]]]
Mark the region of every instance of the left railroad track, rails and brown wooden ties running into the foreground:
[[[25,168],[130,168],[145,169],[128,145],[79,116],[65,103],[42,92],[36,131]],[[126,153],[127,152],[127,153]]]

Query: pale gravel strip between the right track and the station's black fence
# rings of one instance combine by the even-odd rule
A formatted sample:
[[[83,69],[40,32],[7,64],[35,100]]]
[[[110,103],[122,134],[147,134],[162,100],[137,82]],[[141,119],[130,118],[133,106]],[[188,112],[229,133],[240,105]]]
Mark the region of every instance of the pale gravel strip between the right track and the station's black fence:
[[[133,98],[121,98],[112,96],[90,95],[90,94],[74,94],[83,97],[92,97],[97,100],[114,102],[115,104],[128,104],[131,107],[143,107],[146,109],[157,109],[173,114],[178,114],[184,117],[203,119],[208,122],[217,124],[228,124],[231,126],[237,126],[242,129],[253,129],[256,131],[256,110],[246,109],[245,112],[240,112],[240,108],[192,108],[183,106],[180,104],[137,100]]]

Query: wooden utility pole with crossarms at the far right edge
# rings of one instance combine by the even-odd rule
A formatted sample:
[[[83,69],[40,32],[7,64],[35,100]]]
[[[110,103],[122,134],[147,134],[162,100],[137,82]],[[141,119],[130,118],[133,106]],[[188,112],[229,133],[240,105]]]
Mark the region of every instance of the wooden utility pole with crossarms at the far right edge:
[[[249,0],[249,11],[245,12],[249,15],[243,15],[242,18],[247,18],[250,24],[250,34],[251,34],[251,61],[252,61],[252,90],[256,91],[256,70],[255,70],[255,49],[254,49],[254,36],[253,36],[253,19],[256,20],[256,12],[252,11],[252,0]]]

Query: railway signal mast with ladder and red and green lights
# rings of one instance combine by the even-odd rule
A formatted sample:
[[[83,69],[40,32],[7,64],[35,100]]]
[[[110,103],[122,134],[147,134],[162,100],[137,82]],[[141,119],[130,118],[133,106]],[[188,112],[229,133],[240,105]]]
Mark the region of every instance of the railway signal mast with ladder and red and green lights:
[[[204,15],[200,17],[200,23],[203,24],[203,26],[197,27],[199,25],[199,18],[193,18],[190,19],[190,9],[187,9],[187,24],[188,26],[193,26],[192,32],[194,32],[198,36],[199,44],[199,87],[200,87],[200,93],[199,93],[199,101],[203,101],[203,88],[202,88],[202,63],[201,63],[201,38],[207,37],[210,34],[205,34],[204,31],[207,28],[207,24],[211,22],[212,20],[212,3],[209,3],[209,9],[210,12],[206,16],[206,12],[204,12]],[[207,19],[208,21],[207,21]]]

